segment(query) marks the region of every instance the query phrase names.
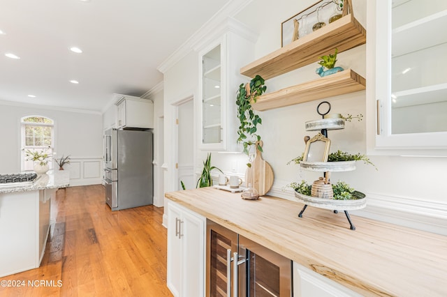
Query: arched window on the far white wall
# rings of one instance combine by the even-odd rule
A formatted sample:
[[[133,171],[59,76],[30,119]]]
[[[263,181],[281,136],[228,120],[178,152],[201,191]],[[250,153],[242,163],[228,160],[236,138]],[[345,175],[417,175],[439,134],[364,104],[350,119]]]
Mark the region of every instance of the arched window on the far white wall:
[[[27,160],[25,151],[43,151],[51,155],[54,144],[54,121],[45,116],[24,116],[21,123],[22,171],[33,170],[34,162]],[[48,158],[48,165],[52,168],[52,158]]]

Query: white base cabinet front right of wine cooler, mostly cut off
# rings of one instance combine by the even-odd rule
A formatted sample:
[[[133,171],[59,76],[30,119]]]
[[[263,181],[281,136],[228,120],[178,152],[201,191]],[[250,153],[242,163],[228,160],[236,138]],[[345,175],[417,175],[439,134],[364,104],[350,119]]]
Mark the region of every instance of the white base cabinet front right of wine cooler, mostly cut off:
[[[355,297],[360,294],[293,262],[293,297]]]

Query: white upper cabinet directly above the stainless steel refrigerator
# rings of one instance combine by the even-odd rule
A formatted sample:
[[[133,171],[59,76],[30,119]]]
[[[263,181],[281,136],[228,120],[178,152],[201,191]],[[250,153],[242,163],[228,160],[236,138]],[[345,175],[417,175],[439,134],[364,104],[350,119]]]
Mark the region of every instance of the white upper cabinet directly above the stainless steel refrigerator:
[[[119,96],[117,128],[154,128],[154,103],[132,96]]]

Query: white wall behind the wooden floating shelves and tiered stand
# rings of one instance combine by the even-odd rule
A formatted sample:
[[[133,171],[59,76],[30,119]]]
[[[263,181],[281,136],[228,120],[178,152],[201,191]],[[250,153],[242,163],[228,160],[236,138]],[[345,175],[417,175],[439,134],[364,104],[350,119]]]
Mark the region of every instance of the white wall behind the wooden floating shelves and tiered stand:
[[[247,24],[251,29],[259,33],[256,43],[256,59],[273,52],[281,47],[281,22],[288,19],[300,10],[311,6],[315,1],[268,1],[254,0],[234,17]],[[370,3],[369,3],[370,4]],[[367,1],[353,0],[354,13],[357,20],[367,28]],[[369,10],[371,6],[369,6]],[[368,31],[369,32],[369,31]],[[374,32],[374,31],[373,31]],[[352,50],[338,55],[338,65],[344,68],[352,68],[363,77],[369,79],[373,68],[374,58],[367,55],[367,46],[374,47],[374,39],[368,35],[368,45],[361,45]],[[173,144],[170,136],[173,119],[170,119],[168,108],[171,102],[184,96],[197,88],[198,55],[191,52],[165,74],[165,107],[166,107],[166,160],[170,160],[173,151],[169,146]],[[241,67],[244,65],[241,65]],[[307,82],[317,78],[315,70],[317,63],[294,70],[269,79],[266,82],[268,92],[277,91],[286,86]],[[247,78],[247,81],[249,79]],[[368,82],[368,80],[367,80]],[[241,82],[242,83],[242,82]],[[371,88],[367,84],[367,88]],[[228,100],[235,100],[235,93],[229,92]],[[332,140],[331,151],[341,149],[351,153],[367,152],[367,135],[374,135],[374,128],[367,125],[367,92],[359,91],[344,96],[327,98],[332,104],[331,112],[342,114],[362,114],[364,121],[346,123],[344,130],[329,131]],[[369,99],[372,100],[372,99]],[[263,137],[265,160],[270,162],[274,171],[274,185],[271,195],[295,199],[293,192],[284,192],[284,186],[292,181],[306,179],[314,181],[318,174],[300,171],[297,165],[286,165],[292,158],[298,157],[305,149],[303,137],[315,134],[305,131],[305,121],[319,119],[316,106],[319,102],[306,102],[291,107],[272,109],[260,112],[263,124],[259,132]],[[369,104],[369,103],[368,103]],[[368,128],[367,128],[368,127]],[[235,136],[236,138],[236,136]],[[196,172],[200,172],[202,160],[207,151],[197,151]],[[365,192],[368,197],[368,206],[363,211],[357,211],[358,215],[365,215],[379,220],[405,224],[409,227],[426,229],[446,234],[447,201],[444,194],[444,183],[441,170],[447,167],[447,158],[411,158],[400,156],[376,156],[369,158],[379,168],[358,162],[358,169],[354,172],[332,174],[332,181],[342,179],[353,188]],[[221,168],[226,174],[244,176],[244,155],[212,153],[212,165]],[[172,165],[172,162],[170,163]],[[172,170],[172,166],[170,170]],[[167,176],[170,176],[168,173]],[[173,184],[166,183],[166,190],[176,190]],[[299,211],[299,210],[297,210]]]

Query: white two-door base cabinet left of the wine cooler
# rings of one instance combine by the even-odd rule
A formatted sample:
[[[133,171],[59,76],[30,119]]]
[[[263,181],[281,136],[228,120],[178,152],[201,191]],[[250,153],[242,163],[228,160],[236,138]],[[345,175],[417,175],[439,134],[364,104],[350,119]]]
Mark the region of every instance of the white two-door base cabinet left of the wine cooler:
[[[167,209],[168,288],[174,296],[204,296],[206,220],[173,201]]]

